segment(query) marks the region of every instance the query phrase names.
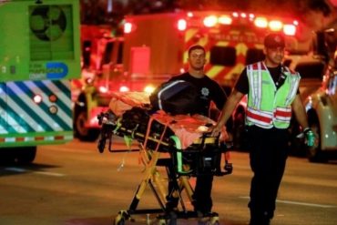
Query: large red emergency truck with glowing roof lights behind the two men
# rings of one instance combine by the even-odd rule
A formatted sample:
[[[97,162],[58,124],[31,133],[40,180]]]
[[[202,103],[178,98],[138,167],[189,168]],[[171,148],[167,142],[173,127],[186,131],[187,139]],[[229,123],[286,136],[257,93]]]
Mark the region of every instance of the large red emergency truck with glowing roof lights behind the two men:
[[[230,89],[244,66],[264,57],[267,33],[282,32],[290,53],[306,51],[310,44],[299,36],[301,29],[295,19],[244,12],[128,15],[124,36],[106,38],[106,51],[94,79],[77,98],[77,136],[97,138],[97,113],[107,108],[110,91],[150,91],[187,71],[189,46],[205,46],[209,59],[206,74]]]

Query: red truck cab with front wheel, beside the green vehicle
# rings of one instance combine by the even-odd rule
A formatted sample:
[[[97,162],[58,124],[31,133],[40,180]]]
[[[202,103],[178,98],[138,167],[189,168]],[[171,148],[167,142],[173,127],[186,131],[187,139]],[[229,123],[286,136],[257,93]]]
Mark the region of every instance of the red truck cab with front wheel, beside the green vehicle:
[[[71,81],[75,136],[98,137],[97,113],[106,108],[115,86],[123,81],[124,37],[113,36],[111,26],[81,25],[81,77]],[[114,83],[113,88],[107,87]]]

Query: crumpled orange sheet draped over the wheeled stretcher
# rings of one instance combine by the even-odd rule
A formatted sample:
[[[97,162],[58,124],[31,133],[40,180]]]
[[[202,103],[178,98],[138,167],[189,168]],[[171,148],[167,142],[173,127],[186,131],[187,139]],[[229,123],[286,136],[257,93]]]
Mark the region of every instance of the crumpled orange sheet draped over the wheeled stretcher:
[[[144,107],[148,105],[148,96],[147,93],[143,92],[116,92],[110,100],[109,108],[117,117],[121,117],[125,111],[132,107]],[[206,125],[215,125],[214,120],[198,114],[192,116],[171,116],[162,110],[152,114],[151,118],[168,126],[179,138],[182,149],[188,148],[198,138],[201,138],[204,133],[209,132],[209,127],[206,127]],[[220,140],[225,140],[226,138],[228,138],[228,135],[226,129],[223,128],[220,134]]]

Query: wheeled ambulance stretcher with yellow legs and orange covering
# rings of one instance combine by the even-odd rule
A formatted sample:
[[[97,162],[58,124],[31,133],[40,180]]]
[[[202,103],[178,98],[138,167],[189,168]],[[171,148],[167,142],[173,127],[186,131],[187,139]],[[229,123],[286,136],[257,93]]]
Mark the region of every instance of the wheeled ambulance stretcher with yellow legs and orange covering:
[[[117,101],[120,100],[126,102],[117,97]],[[210,137],[206,132],[211,120],[199,115],[173,117],[162,111],[153,112],[143,104],[131,105],[133,107],[128,107],[122,113],[109,109],[97,116],[101,125],[97,145],[99,152],[104,151],[107,142],[108,150],[117,152],[111,148],[113,135],[133,138],[138,140],[141,162],[146,167],[128,210],[120,210],[114,224],[124,225],[127,220],[134,221],[132,215],[136,214],[156,214],[155,221],[160,225],[175,225],[178,219],[189,218],[198,218],[199,224],[219,224],[219,215],[216,212],[202,215],[188,210],[182,198],[182,191],[185,190],[189,201],[194,201],[190,177],[205,174],[224,176],[232,172],[225,143],[220,141],[220,137]],[[110,103],[110,108],[116,109],[116,106],[111,107]],[[163,184],[158,167],[165,167],[169,185]],[[138,210],[138,203],[148,187],[156,197],[159,208]],[[177,201],[172,205],[169,199]],[[148,220],[148,224],[150,222]]]

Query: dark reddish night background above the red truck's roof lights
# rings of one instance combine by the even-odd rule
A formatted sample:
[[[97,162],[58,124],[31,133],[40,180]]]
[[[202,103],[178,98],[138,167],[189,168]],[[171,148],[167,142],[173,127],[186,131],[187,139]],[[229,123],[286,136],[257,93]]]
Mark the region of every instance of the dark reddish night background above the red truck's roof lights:
[[[81,23],[120,26],[124,15],[177,12],[180,10],[244,11],[294,17],[322,30],[336,24],[336,0],[80,0]]]

